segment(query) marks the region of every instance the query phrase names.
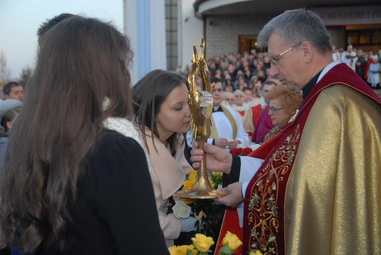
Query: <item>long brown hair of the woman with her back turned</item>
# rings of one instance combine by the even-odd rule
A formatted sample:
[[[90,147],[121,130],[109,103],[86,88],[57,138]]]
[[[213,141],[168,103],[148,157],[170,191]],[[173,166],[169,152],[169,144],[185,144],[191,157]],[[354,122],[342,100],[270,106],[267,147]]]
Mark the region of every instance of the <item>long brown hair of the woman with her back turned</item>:
[[[69,203],[107,117],[132,113],[130,43],[110,24],[70,16],[39,38],[3,177],[2,245],[34,251],[70,240]],[[109,107],[104,110],[105,99]]]

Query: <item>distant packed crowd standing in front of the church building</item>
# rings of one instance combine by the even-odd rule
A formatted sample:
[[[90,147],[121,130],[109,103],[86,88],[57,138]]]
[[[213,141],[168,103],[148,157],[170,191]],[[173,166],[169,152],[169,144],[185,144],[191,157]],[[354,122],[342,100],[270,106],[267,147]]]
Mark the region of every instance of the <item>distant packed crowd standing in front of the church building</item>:
[[[379,89],[379,63],[381,62],[381,49],[377,52],[364,52],[356,49],[352,44],[347,50],[336,48],[332,45],[333,60],[340,60],[351,67],[373,89]],[[207,60],[211,76],[221,80],[224,91],[234,92],[236,89],[243,90],[249,87],[252,90],[252,98],[261,97],[261,84],[270,74],[270,58],[266,51],[258,52],[252,49],[250,52],[229,53],[215,55]],[[180,75],[187,77],[189,66],[186,66]],[[378,78],[376,78],[378,75]],[[197,80],[201,82],[201,79]]]

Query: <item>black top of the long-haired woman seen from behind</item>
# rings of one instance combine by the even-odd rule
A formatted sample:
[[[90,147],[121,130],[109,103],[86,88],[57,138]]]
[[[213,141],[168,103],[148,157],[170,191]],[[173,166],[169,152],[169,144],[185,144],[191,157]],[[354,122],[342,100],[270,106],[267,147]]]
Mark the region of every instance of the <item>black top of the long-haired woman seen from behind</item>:
[[[106,130],[86,162],[69,206],[72,245],[35,254],[169,254],[139,143]]]

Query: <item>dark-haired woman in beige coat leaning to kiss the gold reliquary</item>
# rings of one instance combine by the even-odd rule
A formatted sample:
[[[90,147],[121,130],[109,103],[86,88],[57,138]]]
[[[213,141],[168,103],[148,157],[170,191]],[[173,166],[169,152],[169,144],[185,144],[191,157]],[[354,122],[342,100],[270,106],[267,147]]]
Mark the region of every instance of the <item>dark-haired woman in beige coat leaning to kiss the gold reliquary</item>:
[[[190,110],[185,78],[154,70],[133,89],[135,124],[149,156],[151,179],[160,225],[167,246],[180,232],[194,230],[196,219],[167,214],[169,198],[182,186],[189,166],[184,157],[184,137],[189,130]],[[153,134],[153,135],[152,135]]]

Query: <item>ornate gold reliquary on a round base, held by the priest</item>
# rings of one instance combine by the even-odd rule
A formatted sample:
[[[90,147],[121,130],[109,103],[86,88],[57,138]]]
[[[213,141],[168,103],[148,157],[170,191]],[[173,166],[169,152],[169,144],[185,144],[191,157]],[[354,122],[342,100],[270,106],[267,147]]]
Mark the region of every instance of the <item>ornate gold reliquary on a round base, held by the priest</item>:
[[[190,123],[190,133],[192,140],[198,143],[198,149],[203,149],[203,144],[210,136],[210,116],[213,109],[212,90],[213,87],[209,81],[209,70],[204,59],[205,39],[201,40],[201,52],[197,55],[196,45],[193,45],[194,55],[192,59],[192,73],[188,76],[189,83],[189,108],[192,113]],[[200,67],[200,73],[203,80],[203,89],[197,91],[196,78]],[[218,194],[209,183],[208,170],[206,169],[206,154],[202,155],[200,167],[197,169],[196,181],[189,189],[180,190],[173,195],[178,198],[190,199],[214,199],[224,197],[224,194]]]

